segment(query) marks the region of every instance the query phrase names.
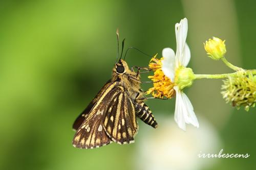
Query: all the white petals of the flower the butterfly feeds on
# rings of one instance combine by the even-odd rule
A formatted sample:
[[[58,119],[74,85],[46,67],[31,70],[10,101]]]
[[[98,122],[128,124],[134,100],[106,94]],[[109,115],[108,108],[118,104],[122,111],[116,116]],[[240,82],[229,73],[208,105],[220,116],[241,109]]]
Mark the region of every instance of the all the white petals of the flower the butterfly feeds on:
[[[172,48],[164,48],[162,51],[162,70],[164,74],[175,82],[176,70],[183,66],[186,67],[190,60],[190,50],[186,43],[187,37],[187,18],[181,19],[180,23],[175,25],[177,50],[176,54]],[[180,89],[178,85],[174,87],[176,91],[176,105],[174,118],[178,126],[186,130],[186,124],[192,124],[199,127],[199,123],[194,112],[191,102],[187,95]]]

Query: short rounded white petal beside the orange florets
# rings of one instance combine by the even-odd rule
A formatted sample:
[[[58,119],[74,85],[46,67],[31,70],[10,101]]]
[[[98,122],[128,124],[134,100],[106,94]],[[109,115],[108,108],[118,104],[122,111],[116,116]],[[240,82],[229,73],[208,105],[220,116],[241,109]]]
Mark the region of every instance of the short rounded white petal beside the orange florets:
[[[162,70],[172,82],[175,74],[175,53],[172,48],[164,48],[162,51]]]

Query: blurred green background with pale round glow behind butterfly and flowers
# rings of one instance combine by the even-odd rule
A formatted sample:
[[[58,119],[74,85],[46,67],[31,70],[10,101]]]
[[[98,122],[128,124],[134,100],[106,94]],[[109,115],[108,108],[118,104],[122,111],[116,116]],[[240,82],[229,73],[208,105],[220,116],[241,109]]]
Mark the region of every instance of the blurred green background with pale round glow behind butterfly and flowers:
[[[135,143],[94,150],[71,144],[75,118],[111,76],[117,28],[125,47],[161,56],[164,47],[176,49],[175,23],[187,17],[195,73],[232,71],[206,57],[203,41],[212,36],[226,39],[231,63],[252,69],[255,6],[238,0],[1,1],[0,169],[255,169],[256,110],[225,104],[221,80],[198,80],[186,91],[199,129],[178,129],[175,100],[148,100],[159,128],[139,121]],[[126,61],[145,66],[149,60],[131,50]],[[221,149],[250,157],[197,156]]]

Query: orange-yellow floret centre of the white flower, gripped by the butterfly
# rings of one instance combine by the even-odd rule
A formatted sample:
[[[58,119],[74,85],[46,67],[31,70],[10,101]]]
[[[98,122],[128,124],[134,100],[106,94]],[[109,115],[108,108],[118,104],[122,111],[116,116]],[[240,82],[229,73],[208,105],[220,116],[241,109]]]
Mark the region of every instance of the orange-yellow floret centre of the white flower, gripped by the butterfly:
[[[151,59],[150,64],[148,66],[153,69],[154,76],[148,76],[154,82],[154,87],[151,87],[146,91],[147,94],[152,94],[154,98],[163,99],[173,98],[175,96],[174,83],[164,75],[162,71],[162,63],[160,60],[156,58],[156,55]]]

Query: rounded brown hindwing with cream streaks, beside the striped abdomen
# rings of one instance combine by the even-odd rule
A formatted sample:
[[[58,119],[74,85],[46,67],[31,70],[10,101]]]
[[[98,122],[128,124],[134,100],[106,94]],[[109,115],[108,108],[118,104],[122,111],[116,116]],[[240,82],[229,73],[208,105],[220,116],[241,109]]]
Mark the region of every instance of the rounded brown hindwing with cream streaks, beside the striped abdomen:
[[[120,89],[120,92],[111,100],[111,105],[106,110],[103,127],[114,142],[132,143],[138,130],[135,107],[123,87],[118,86],[116,89]]]

